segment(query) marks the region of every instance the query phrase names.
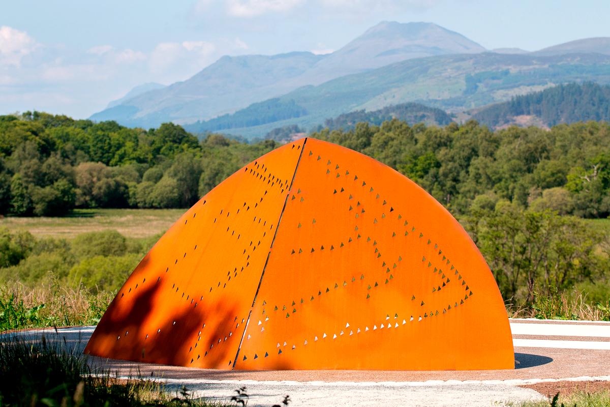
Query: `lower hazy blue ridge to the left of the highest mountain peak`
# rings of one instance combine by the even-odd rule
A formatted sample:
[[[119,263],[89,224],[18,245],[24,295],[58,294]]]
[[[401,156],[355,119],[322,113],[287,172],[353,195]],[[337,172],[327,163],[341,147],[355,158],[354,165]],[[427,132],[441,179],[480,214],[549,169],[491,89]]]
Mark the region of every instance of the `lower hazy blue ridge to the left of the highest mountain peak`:
[[[151,90],[91,116],[124,126],[156,127],[165,121],[210,118],[295,88],[287,83],[324,56],[290,52],[274,56],[224,56],[187,81]]]

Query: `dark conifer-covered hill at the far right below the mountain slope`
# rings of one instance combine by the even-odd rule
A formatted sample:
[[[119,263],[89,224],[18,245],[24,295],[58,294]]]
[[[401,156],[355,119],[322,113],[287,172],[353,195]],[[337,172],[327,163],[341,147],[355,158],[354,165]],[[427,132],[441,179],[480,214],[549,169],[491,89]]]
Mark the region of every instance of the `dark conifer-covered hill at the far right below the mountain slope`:
[[[558,85],[484,107],[472,118],[498,128],[517,123],[525,116],[539,118],[548,127],[576,121],[610,121],[610,86],[593,82]],[[528,118],[523,120],[528,122]]]

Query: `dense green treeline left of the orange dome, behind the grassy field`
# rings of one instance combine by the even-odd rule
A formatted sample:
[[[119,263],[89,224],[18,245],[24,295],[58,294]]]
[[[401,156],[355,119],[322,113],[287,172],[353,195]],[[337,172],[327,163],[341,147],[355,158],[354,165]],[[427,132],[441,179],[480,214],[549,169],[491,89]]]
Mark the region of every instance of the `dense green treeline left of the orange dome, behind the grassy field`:
[[[0,116],[0,214],[63,215],[75,207],[190,207],[276,148],[184,128],[129,129],[26,112]]]

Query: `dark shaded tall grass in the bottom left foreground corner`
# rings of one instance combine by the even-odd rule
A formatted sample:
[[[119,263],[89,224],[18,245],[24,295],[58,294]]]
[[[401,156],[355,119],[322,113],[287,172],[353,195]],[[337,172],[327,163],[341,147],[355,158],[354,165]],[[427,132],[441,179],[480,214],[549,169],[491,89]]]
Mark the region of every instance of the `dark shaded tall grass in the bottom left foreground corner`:
[[[141,376],[119,380],[91,367],[66,344],[26,341],[9,335],[0,342],[0,406],[222,406],[193,398],[184,387],[173,394]]]

